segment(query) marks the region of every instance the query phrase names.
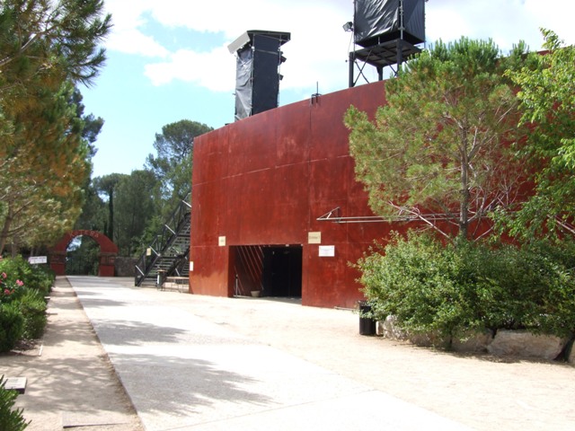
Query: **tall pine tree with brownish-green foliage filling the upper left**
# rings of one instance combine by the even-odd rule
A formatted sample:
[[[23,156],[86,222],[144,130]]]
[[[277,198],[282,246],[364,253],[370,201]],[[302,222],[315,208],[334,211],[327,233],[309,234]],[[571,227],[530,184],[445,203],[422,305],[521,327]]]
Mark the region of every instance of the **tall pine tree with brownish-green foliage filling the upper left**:
[[[101,0],[0,4],[0,252],[8,240],[50,242],[79,214],[90,152],[73,87],[103,65],[102,10]]]

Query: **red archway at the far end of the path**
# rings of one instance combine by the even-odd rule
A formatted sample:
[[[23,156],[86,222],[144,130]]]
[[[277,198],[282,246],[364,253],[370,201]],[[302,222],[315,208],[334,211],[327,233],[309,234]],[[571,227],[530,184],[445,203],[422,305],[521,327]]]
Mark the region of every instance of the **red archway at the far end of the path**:
[[[64,237],[49,252],[50,268],[57,276],[66,274],[66,249],[76,236],[90,236],[100,245],[99,277],[114,277],[114,262],[118,255],[118,246],[111,242],[110,238],[96,231],[72,231]]]

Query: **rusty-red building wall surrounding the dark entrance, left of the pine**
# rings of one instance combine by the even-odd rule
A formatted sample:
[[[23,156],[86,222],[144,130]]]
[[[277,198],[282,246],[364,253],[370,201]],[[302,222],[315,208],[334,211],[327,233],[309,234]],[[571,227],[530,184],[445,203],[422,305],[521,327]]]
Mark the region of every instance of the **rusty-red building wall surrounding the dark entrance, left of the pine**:
[[[349,131],[351,104],[370,114],[385,103],[384,83],[300,101],[234,122],[194,143],[190,291],[233,293],[235,245],[302,244],[302,303],[353,307],[363,297],[349,267],[391,224],[333,224],[317,217],[373,216],[354,177]],[[398,226],[395,226],[398,227]],[[309,232],[322,233],[335,257],[319,257]],[[226,236],[226,245],[218,238]]]

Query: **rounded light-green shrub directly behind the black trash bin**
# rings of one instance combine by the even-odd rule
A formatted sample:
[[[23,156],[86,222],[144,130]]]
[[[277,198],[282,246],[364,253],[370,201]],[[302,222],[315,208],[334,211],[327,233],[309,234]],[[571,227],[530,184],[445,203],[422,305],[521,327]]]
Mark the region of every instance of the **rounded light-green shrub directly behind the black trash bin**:
[[[411,333],[435,332],[451,338],[461,328],[477,328],[472,305],[456,283],[456,255],[428,235],[396,235],[385,254],[358,261],[360,282],[376,319],[396,316]]]

